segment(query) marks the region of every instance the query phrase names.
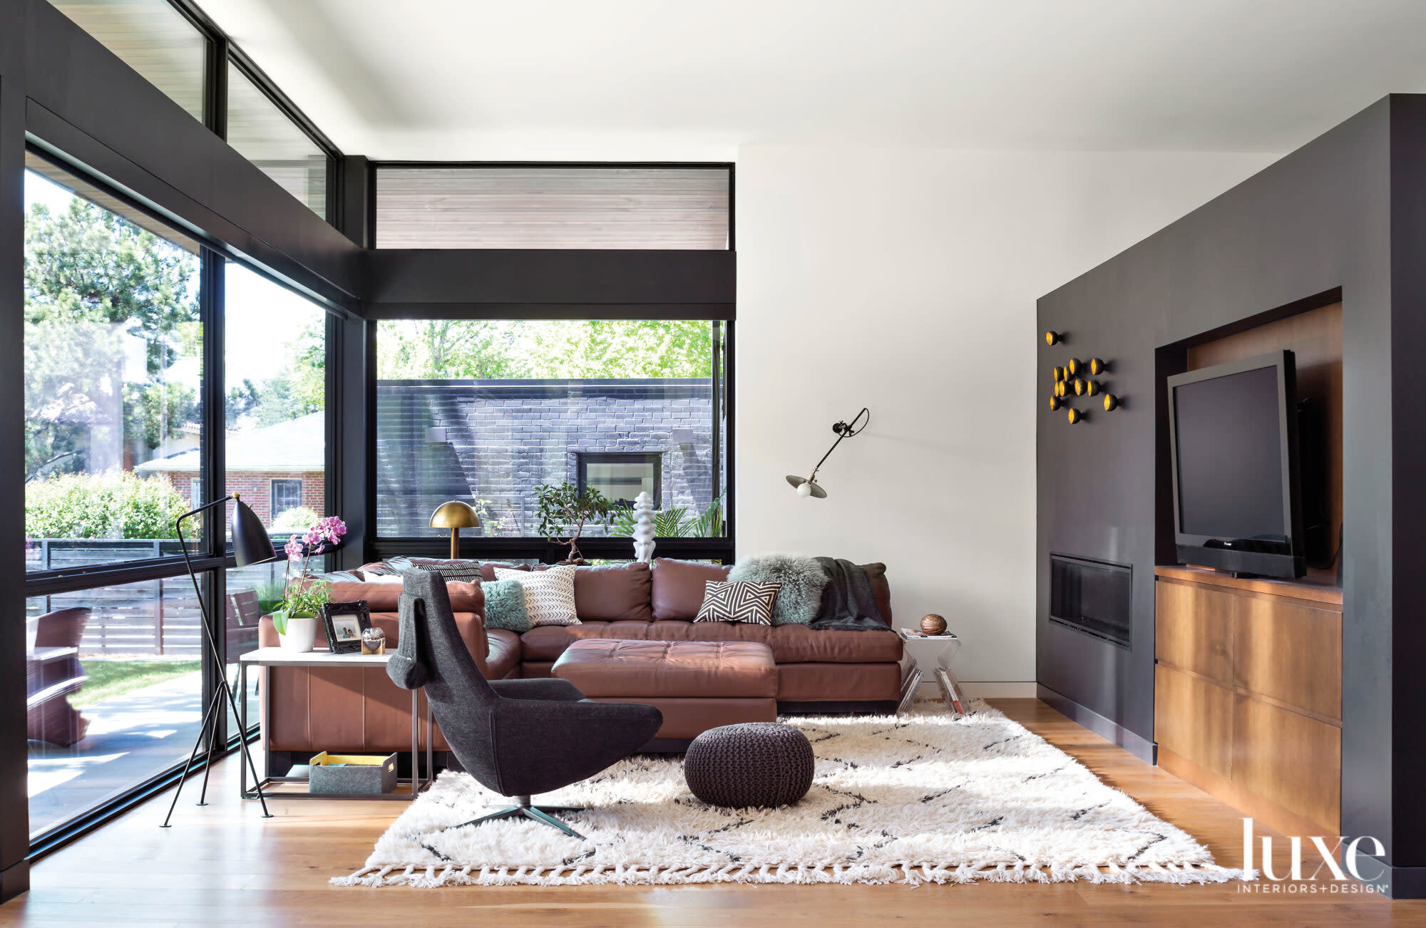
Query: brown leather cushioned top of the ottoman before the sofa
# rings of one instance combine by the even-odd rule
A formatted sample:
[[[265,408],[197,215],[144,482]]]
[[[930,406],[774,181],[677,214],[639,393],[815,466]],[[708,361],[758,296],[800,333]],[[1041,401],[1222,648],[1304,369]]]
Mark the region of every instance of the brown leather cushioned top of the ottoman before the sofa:
[[[777,664],[753,641],[616,641],[570,644],[553,673],[590,698],[777,696]]]

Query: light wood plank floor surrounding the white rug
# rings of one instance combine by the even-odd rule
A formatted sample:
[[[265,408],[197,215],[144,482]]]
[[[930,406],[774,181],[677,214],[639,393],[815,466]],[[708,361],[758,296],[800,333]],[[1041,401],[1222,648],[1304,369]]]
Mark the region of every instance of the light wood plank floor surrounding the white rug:
[[[1038,700],[991,700],[1079,758],[1108,784],[1188,830],[1225,865],[1241,865],[1235,810],[1149,767]],[[175,827],[167,798],[51,854],[33,890],[0,907],[0,924],[559,925],[626,928],[863,928],[866,925],[1426,925],[1426,901],[1375,895],[1248,894],[1229,885],[712,885],[337,888],[401,811],[395,803],[274,803],[264,821],[237,800],[237,764],[215,768],[212,804],[191,784]],[[1281,844],[1281,842],[1279,842]],[[1279,872],[1281,864],[1279,864]]]

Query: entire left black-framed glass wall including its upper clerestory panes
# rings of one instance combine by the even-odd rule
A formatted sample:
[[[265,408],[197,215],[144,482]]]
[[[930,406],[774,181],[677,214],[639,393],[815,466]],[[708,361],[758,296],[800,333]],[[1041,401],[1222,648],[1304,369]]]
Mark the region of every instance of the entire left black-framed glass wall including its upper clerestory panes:
[[[6,140],[24,145],[27,168],[23,371],[11,368],[23,433],[16,422],[10,435],[23,443],[24,610],[11,612],[26,633],[30,850],[47,852],[171,781],[218,686],[207,657],[232,677],[255,647],[287,564],[231,566],[231,505],[184,522],[183,537],[175,519],[241,492],[282,556],[289,530],[328,515],[325,314],[356,297],[352,279],[312,267],[321,259],[307,239],[254,247],[205,221],[234,220],[242,197],[268,207],[257,225],[287,222],[328,241],[331,230],[311,227],[260,174],[234,171],[231,150],[324,220],[341,153],[202,10],[188,0],[23,6],[7,47],[74,66],[61,93],[31,104],[24,140]],[[0,57],[6,86],[24,100],[23,78],[40,70],[10,70]],[[111,121],[74,120],[71,107],[88,113],[98,98]],[[56,117],[48,128],[41,110]],[[54,128],[66,121],[97,134],[76,141]],[[148,144],[155,138],[174,144]],[[143,144],[125,145],[134,140]],[[116,151],[137,161],[106,163]],[[218,187],[232,197],[205,200],[202,182],[145,187],[173,180],[165,171],[180,164],[191,177],[194,160],[214,177],[221,165]],[[268,275],[274,265],[281,275]],[[302,287],[321,297],[298,295]],[[231,723],[218,736],[232,738]],[[0,811],[0,865],[10,867],[24,810]]]

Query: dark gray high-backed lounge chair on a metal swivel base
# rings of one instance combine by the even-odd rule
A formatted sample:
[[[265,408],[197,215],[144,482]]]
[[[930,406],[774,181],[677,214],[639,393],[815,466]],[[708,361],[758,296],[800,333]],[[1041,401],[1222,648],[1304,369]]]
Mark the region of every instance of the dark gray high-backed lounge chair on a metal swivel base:
[[[530,795],[592,777],[653,738],[663,713],[642,703],[593,703],[566,680],[486,680],[456,630],[439,573],[402,574],[401,627],[386,673],[396,686],[425,686],[426,700],[456,760],[515,805],[461,828],[526,817],[582,838]]]

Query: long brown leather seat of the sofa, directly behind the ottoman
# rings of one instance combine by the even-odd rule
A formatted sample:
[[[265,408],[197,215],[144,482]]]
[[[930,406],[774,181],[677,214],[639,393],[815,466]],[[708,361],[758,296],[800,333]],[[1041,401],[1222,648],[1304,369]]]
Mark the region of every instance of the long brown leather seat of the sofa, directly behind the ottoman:
[[[760,626],[750,622],[609,622],[568,626],[565,630],[572,640],[756,641],[769,646],[779,664],[901,660],[901,637],[891,631],[816,631],[799,624]]]

